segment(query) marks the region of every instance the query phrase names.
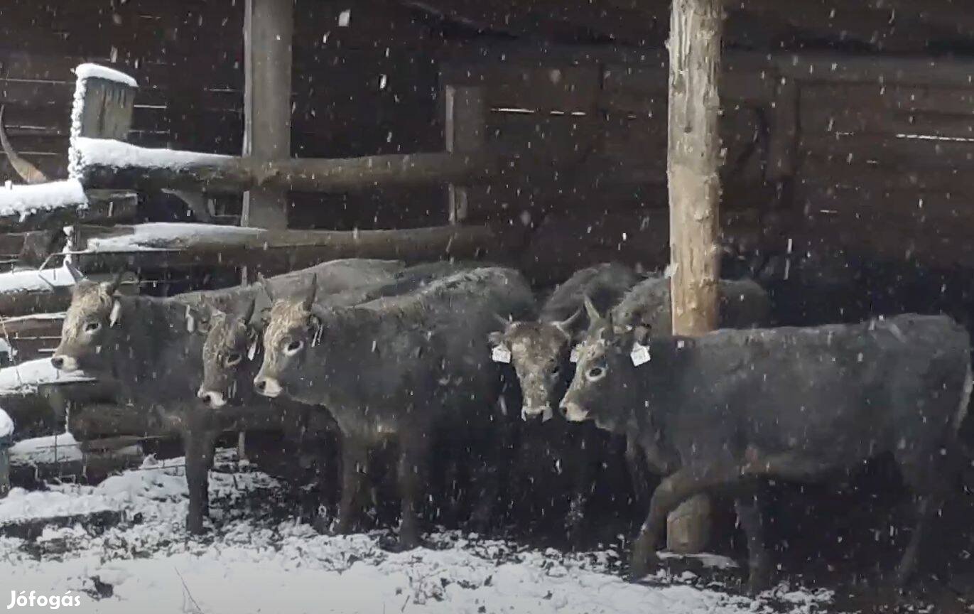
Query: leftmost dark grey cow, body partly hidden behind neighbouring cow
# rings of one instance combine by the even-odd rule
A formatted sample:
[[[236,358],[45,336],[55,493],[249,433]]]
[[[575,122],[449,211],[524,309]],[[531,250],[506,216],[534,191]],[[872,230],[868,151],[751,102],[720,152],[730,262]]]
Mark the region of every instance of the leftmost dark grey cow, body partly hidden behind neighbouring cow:
[[[387,260],[336,260],[282,277],[300,284],[303,277],[314,275],[318,291],[326,293],[391,280],[403,266]],[[266,401],[226,411],[212,411],[199,402],[205,339],[194,309],[210,304],[234,311],[237,301],[248,300],[258,287],[169,298],[125,296],[117,292],[121,276],[97,284],[74,274],[78,281],[52,364],[111,382],[118,403],[154,414],[153,422],[182,438],[190,499],[186,524],[191,532],[202,532],[208,512],[207,472],[216,438],[228,430],[281,428],[281,415],[286,412]]]

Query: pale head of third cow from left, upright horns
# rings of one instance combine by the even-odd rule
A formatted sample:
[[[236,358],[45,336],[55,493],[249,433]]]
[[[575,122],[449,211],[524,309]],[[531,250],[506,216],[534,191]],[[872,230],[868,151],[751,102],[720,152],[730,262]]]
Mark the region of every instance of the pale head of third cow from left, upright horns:
[[[279,397],[297,377],[309,349],[321,337],[321,319],[316,315],[315,293],[318,288],[312,278],[311,288],[304,297],[274,301],[267,327],[264,329],[264,362],[253,380],[254,388],[265,397]]]

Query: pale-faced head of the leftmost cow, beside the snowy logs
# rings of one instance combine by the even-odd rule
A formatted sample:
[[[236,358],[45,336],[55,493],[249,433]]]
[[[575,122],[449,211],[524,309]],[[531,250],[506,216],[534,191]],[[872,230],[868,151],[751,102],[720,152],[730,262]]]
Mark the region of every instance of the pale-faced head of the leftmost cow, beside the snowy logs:
[[[73,269],[69,270],[75,275]],[[101,284],[78,276],[75,279],[71,305],[64,316],[60,343],[51,364],[64,371],[97,372],[105,365],[102,352],[114,349],[112,329],[122,318],[122,305],[116,294],[122,274]]]

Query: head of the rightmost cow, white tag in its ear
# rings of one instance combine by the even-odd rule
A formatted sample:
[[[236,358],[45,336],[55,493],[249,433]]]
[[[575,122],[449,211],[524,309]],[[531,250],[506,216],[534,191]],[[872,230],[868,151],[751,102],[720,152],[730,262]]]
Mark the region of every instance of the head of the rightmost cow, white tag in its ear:
[[[559,406],[569,422],[594,420],[600,429],[615,431],[619,411],[630,404],[620,402],[635,392],[626,389],[624,376],[636,368],[633,348],[649,343],[649,333],[630,330],[618,335],[611,320],[597,314],[592,318],[584,340],[574,350],[575,377]]]

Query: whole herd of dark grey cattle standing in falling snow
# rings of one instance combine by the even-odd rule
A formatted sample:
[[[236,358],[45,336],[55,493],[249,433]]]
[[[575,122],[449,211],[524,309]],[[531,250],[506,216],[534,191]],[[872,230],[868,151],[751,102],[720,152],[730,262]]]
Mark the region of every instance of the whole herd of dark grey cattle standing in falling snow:
[[[456,514],[485,528],[506,484],[538,469],[512,461],[518,441],[569,480],[569,523],[618,453],[649,510],[637,578],[671,511],[701,492],[731,493],[756,590],[772,569],[761,480],[821,479],[891,453],[917,502],[896,571],[905,581],[960,465],[970,347],[948,317],[762,328],[765,290],[724,281],[722,329],[674,336],[669,280],[618,264],[541,298],[517,271],[477,263],[335,260],[168,298],[72,272],[52,362],[108,382],[115,402],[182,438],[194,532],[226,432],[338,445],[338,532],[356,530],[372,452],[392,443],[402,548],[421,542],[434,480]],[[652,490],[650,474],[662,477]]]

